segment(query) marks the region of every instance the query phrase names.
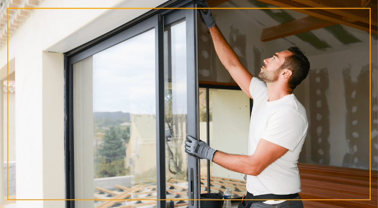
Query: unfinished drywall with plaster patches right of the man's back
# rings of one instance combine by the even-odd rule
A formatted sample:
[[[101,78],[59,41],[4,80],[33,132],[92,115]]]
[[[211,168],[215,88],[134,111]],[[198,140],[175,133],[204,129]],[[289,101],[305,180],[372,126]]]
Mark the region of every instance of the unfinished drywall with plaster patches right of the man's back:
[[[356,53],[357,51],[358,53]],[[371,52],[371,71],[369,68],[369,47],[353,48],[346,51],[309,57],[312,68],[312,72],[308,77],[310,83],[316,82],[318,77],[320,77],[321,82],[326,81],[324,78],[322,80],[322,77],[324,77],[325,73],[328,73],[328,90],[322,86],[319,86],[319,89],[325,93],[322,101],[326,100],[328,103],[330,128],[328,143],[322,142],[316,146],[316,148],[323,149],[323,155],[316,152],[316,149],[313,148],[316,142],[311,141],[311,148],[313,150],[311,159],[316,159],[311,162],[322,164],[319,158],[329,157],[330,161],[328,164],[323,160],[324,165],[361,169],[369,169],[369,165],[371,165],[372,169],[376,170],[378,168],[378,77],[376,59],[378,48],[376,40],[372,41]],[[316,74],[318,70],[320,71],[319,76],[311,76],[312,74]],[[370,73],[371,80],[369,82]],[[369,87],[370,84],[371,88]],[[310,85],[311,87],[312,85]],[[371,103],[369,106],[370,98]],[[313,98],[311,97],[310,101],[311,99]],[[314,105],[316,106],[316,104]],[[314,121],[317,121],[316,118],[313,118],[316,114],[313,112],[315,108],[310,108],[310,130],[312,132],[319,125],[314,123]],[[371,118],[369,118],[369,110],[371,111]],[[324,116],[321,120],[323,119]],[[369,129],[369,124],[371,124],[371,130]],[[371,143],[369,143],[369,135],[371,135]],[[311,133],[311,138],[312,140],[318,139],[314,137],[314,133]],[[323,141],[324,139],[322,138]],[[369,150],[370,144],[371,149]],[[324,151],[327,148],[329,148],[329,152]],[[369,158],[370,151],[371,157]],[[369,164],[370,159],[371,164]]]

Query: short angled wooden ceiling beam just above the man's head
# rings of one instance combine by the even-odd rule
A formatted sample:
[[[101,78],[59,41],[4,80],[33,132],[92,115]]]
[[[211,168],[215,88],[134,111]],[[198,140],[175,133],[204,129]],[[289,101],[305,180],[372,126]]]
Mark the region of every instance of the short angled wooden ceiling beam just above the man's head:
[[[302,19],[293,20],[273,27],[264,28],[261,33],[261,41],[266,42],[270,40],[275,40],[282,37],[304,33],[314,29],[324,28],[326,26],[331,26],[335,24],[336,23],[324,19],[308,16]]]

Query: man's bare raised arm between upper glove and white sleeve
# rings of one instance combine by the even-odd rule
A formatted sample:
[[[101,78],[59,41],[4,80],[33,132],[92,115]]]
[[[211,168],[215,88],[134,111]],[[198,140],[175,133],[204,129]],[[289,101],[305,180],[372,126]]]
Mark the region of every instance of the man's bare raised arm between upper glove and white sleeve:
[[[239,87],[242,88],[243,92],[249,98],[252,98],[251,93],[249,93],[249,84],[251,84],[251,79],[253,78],[252,74],[242,65],[217,25],[210,28],[210,33],[220,61]]]

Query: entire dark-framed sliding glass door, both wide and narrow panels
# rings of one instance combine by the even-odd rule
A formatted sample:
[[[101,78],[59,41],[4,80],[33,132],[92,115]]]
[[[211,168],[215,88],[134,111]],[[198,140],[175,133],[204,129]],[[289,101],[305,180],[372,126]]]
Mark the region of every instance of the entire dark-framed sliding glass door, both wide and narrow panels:
[[[67,207],[199,207],[195,12],[156,10],[67,56],[67,199],[95,199]]]

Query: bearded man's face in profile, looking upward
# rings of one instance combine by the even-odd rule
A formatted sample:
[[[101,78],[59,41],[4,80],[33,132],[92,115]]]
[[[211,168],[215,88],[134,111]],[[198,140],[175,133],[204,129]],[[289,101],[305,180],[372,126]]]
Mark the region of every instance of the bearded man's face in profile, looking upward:
[[[280,72],[282,71],[282,69],[278,68],[285,62],[285,58],[291,54],[293,53],[290,51],[282,51],[275,53],[271,58],[265,59],[259,73],[259,78],[266,83],[278,81]]]

